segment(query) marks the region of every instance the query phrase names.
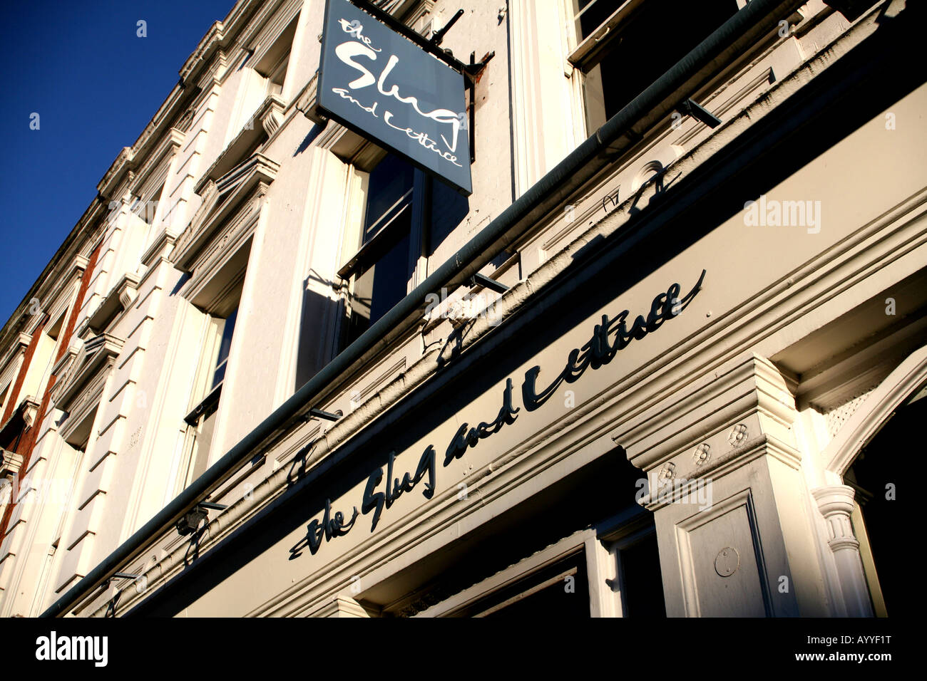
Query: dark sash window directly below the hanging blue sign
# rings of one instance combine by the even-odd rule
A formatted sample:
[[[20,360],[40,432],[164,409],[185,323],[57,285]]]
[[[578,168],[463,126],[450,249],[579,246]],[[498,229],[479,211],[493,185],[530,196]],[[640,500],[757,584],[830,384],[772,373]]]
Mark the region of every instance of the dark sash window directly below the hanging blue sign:
[[[424,278],[427,258],[467,212],[467,199],[444,183],[401,158],[380,160],[367,178],[360,245],[338,271],[350,282],[346,345]]]

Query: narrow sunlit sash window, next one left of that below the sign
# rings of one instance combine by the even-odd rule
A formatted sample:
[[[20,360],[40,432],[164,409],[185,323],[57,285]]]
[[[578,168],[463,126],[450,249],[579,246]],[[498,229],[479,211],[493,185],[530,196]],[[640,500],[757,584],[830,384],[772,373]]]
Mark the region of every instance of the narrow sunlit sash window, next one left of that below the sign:
[[[206,315],[203,350],[192,400],[196,404],[184,418],[187,424],[184,445],[186,456],[181,489],[205,472],[209,464],[212,435],[219,410],[219,398],[222,396],[229,351],[232,347],[232,336],[235,334],[240,296],[239,286],[235,295],[229,296],[225,301],[224,309]]]

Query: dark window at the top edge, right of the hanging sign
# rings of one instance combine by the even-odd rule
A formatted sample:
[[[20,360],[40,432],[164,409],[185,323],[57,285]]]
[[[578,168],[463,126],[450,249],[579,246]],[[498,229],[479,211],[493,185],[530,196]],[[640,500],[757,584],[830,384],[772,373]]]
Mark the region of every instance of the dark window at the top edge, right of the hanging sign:
[[[597,130],[738,10],[737,0],[568,0],[569,61],[583,74],[588,132]]]

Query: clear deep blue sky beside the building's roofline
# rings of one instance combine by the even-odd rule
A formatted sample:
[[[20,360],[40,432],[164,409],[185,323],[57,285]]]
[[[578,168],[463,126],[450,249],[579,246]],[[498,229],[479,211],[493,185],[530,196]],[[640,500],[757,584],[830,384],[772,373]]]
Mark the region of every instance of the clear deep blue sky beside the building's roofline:
[[[234,0],[6,3],[0,117],[0,326]],[[138,37],[137,21],[147,36]],[[39,130],[30,129],[32,113]]]

